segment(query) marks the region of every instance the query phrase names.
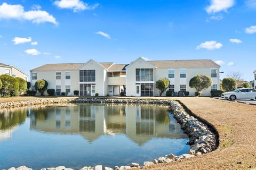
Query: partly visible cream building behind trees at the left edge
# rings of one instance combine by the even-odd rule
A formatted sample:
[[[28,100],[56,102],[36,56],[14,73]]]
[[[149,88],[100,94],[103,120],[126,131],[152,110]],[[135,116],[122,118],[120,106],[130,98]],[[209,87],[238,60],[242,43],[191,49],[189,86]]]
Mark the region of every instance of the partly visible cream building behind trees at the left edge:
[[[13,65],[6,65],[0,63],[0,75],[2,74],[11,75],[12,77],[19,77],[24,79],[25,81],[28,81],[28,75],[17,69],[17,67],[14,67]]]

